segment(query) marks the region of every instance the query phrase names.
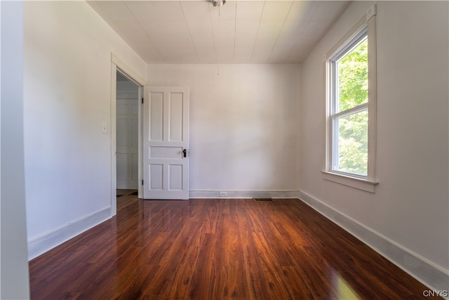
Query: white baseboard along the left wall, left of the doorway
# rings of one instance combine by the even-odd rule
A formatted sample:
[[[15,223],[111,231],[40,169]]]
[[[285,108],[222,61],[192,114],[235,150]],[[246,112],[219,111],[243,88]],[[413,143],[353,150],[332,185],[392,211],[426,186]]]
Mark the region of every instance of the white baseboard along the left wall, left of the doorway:
[[[97,226],[98,224],[111,218],[111,207],[106,207],[93,214],[68,223],[65,226],[57,228],[50,233],[45,233],[34,237],[28,241],[28,260],[47,252],[50,249],[70,240],[72,237],[83,233],[84,231]]]

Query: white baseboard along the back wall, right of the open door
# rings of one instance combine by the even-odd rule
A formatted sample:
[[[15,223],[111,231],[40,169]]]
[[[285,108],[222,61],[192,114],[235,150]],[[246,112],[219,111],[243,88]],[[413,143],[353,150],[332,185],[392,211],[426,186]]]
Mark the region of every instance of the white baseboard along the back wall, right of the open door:
[[[226,196],[220,197],[220,192],[225,192]],[[192,199],[299,197],[299,190],[189,190],[189,198]]]

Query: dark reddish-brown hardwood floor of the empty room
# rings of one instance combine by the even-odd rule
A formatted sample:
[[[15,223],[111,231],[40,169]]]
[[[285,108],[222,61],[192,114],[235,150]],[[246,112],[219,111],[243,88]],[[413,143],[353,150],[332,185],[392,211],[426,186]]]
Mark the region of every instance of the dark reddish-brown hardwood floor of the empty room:
[[[300,200],[138,200],[29,262],[32,299],[424,299]],[[429,299],[429,298],[426,298]]]

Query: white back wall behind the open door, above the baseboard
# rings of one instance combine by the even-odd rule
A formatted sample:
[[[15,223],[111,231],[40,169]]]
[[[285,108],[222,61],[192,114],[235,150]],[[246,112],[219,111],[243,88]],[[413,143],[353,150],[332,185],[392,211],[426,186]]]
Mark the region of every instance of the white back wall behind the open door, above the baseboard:
[[[152,86],[190,87],[191,197],[299,190],[299,65],[149,65]],[[265,191],[265,192],[264,192]],[[281,193],[276,193],[281,191]]]

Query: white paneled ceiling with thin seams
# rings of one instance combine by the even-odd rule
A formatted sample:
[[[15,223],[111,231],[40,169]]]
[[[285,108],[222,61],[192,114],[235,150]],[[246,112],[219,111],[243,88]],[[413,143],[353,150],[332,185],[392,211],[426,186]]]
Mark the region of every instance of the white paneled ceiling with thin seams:
[[[350,1],[87,1],[147,63],[302,63]]]

